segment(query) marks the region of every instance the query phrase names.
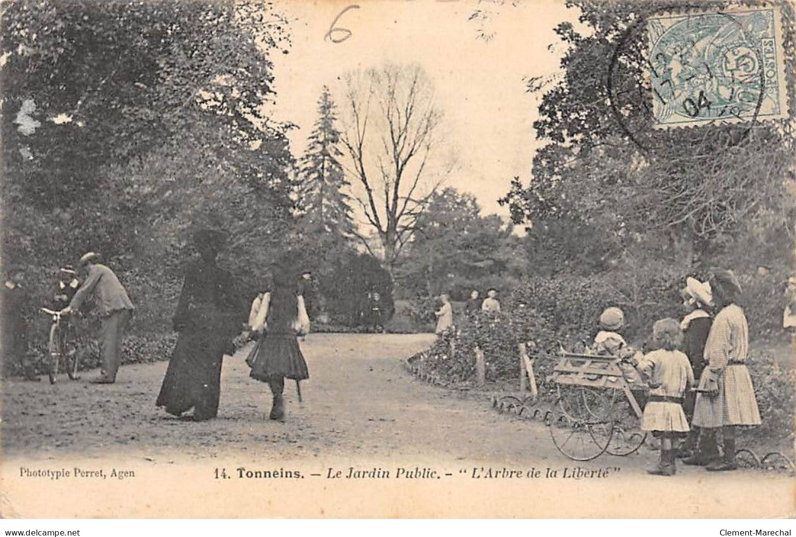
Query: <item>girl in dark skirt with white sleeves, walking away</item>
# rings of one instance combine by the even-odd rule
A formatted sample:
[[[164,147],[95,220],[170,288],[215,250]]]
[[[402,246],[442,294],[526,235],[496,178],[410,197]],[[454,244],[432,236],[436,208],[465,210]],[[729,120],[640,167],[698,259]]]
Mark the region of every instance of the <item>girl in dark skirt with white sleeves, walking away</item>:
[[[274,396],[270,418],[283,421],[285,379],[310,378],[298,347],[298,337],[309,331],[309,319],[291,270],[282,267],[275,271],[274,289],[263,295],[255,327],[261,335],[246,359],[252,368],[249,376],[268,383]]]

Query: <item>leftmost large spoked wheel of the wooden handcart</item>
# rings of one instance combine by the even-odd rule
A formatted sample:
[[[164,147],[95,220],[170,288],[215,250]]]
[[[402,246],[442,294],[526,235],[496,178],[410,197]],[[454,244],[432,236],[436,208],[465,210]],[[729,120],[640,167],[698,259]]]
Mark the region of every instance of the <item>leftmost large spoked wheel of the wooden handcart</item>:
[[[549,420],[552,442],[573,461],[591,461],[610,445],[613,427],[611,422],[595,418],[572,419],[569,403],[559,399],[552,409]]]

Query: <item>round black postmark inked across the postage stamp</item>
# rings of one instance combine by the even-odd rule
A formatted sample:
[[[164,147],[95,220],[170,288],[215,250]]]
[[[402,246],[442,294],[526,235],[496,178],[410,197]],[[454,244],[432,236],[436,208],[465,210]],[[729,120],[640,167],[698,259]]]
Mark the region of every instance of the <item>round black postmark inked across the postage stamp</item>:
[[[607,94],[618,124],[645,151],[673,129],[678,137],[708,135],[688,127],[722,126],[713,133],[721,146],[741,142],[767,98],[771,27],[767,14],[753,9],[638,14],[611,56]]]

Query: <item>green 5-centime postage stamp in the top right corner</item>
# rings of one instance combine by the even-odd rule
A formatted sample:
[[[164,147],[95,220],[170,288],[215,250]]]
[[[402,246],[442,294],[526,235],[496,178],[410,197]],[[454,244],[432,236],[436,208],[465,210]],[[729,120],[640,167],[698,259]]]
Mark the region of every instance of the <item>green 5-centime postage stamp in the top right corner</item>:
[[[655,128],[787,117],[776,7],[662,14],[646,29]]]

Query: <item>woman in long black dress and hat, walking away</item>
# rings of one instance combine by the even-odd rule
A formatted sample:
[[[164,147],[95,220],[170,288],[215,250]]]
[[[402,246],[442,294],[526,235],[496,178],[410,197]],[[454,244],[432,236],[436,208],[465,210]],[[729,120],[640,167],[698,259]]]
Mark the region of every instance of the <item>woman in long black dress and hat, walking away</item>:
[[[185,283],[174,314],[177,345],[155,403],[179,416],[193,408],[193,420],[218,414],[221,360],[232,349],[238,323],[232,276],[216,265],[224,233],[201,230],[193,239],[200,259],[185,270]]]

